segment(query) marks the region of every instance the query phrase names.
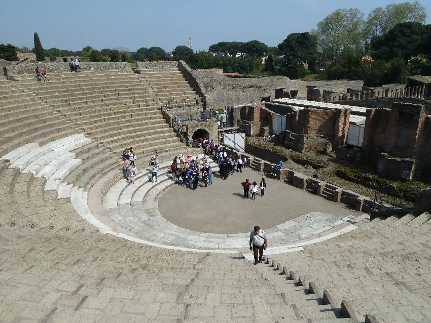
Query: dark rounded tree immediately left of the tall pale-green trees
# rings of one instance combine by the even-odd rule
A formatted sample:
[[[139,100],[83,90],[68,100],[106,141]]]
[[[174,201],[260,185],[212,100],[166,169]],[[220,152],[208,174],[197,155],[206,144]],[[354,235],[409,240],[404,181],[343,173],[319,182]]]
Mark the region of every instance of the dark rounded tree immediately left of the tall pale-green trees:
[[[317,39],[309,32],[291,33],[278,49],[282,54],[280,74],[291,78],[305,76],[305,69],[301,62],[308,62],[310,70],[314,70],[317,57]]]

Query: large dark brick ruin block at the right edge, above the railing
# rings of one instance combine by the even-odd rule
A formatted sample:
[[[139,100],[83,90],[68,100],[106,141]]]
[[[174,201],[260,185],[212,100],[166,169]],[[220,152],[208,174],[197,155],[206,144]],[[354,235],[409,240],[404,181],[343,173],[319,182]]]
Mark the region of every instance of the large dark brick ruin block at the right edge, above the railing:
[[[421,104],[367,109],[362,157],[378,171],[411,180],[431,171],[431,116]]]

